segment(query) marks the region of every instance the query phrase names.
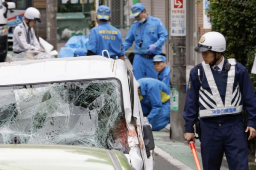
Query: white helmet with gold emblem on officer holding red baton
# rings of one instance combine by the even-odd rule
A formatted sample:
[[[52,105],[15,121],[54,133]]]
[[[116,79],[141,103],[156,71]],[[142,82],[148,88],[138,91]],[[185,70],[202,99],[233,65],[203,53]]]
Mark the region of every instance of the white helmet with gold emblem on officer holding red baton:
[[[208,32],[203,34],[197,46],[195,47],[196,52],[204,51],[224,52],[226,50],[226,39],[219,32]]]

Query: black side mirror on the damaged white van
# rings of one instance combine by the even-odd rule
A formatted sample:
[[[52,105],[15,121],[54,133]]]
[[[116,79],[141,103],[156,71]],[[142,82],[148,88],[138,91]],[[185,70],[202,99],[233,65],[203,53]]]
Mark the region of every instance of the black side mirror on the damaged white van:
[[[155,141],[150,125],[143,125],[144,144],[147,152],[147,157],[150,156],[150,151],[155,149]]]

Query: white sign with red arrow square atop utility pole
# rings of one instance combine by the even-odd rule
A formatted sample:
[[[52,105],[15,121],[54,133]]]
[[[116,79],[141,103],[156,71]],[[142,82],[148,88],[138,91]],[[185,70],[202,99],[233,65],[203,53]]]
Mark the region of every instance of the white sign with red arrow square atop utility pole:
[[[171,36],[186,36],[186,0],[171,0]]]

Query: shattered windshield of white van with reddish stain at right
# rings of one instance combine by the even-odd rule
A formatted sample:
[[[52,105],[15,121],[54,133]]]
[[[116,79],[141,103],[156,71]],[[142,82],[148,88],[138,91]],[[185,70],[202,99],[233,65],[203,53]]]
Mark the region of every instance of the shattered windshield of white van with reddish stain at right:
[[[128,149],[116,79],[0,87],[0,144]]]

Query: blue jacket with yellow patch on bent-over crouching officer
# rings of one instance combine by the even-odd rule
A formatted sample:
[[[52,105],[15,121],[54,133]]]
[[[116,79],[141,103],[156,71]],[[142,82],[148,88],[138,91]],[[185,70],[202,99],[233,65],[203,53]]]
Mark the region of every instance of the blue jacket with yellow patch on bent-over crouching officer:
[[[143,113],[149,113],[148,120],[152,120],[155,115],[161,114],[163,105],[170,105],[170,89],[155,78],[141,78],[138,80],[141,89],[141,107]],[[170,112],[170,107],[169,107]],[[168,113],[169,114],[169,113]]]

